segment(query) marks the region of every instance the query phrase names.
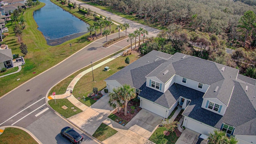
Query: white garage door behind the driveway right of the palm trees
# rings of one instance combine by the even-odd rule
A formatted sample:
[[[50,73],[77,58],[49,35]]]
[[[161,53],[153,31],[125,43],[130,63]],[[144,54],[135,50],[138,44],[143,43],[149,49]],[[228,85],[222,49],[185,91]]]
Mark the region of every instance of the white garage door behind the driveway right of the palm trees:
[[[158,114],[159,116],[165,117],[166,110],[164,108],[161,108],[160,106],[157,106],[156,104],[153,104],[146,100],[142,100],[142,102],[143,102],[142,108],[145,108],[146,110],[149,110],[150,112]]]

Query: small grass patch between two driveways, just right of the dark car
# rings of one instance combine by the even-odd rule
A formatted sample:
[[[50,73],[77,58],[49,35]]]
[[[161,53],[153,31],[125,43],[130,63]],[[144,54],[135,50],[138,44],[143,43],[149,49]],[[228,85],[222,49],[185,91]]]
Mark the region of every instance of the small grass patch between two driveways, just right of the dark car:
[[[97,138],[102,142],[103,140],[106,140],[107,138],[109,138],[110,136],[113,136],[116,133],[117,133],[116,130],[102,123],[100,124],[100,126],[92,136],[94,136],[94,138]]]

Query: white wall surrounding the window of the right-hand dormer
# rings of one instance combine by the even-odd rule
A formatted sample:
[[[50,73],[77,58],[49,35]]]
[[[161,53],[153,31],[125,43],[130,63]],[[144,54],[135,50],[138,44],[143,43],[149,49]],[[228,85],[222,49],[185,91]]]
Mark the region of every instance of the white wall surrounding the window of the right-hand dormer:
[[[220,112],[216,112],[215,110],[211,110],[210,108],[206,108],[207,100],[209,100],[210,102],[214,102],[214,103],[216,103],[216,104],[222,105],[222,108],[221,108]],[[204,100],[203,100],[203,102],[202,102],[201,108],[204,108],[204,109],[206,109],[206,110],[210,110],[211,112],[214,112],[214,113],[216,113],[216,114],[220,114],[220,115],[222,115],[222,116],[225,114],[226,109],[227,109],[226,105],[223,104],[220,100],[218,100],[218,98],[204,98]]]

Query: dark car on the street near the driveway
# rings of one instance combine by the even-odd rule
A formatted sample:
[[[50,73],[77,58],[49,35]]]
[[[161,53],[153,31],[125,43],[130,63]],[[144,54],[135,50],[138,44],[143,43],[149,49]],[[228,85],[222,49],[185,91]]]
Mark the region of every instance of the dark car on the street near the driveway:
[[[66,126],[65,128],[62,128],[60,131],[61,136],[65,136],[68,138],[72,143],[79,144],[84,140],[84,137],[81,136],[78,132],[73,130],[73,128],[70,128],[69,126]]]

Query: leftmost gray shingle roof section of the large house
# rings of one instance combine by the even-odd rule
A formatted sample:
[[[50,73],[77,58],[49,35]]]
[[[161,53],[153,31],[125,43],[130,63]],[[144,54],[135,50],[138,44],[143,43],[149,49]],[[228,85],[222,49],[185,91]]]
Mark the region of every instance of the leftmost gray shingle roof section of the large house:
[[[146,75],[166,62],[166,59],[170,58],[170,56],[172,55],[153,50],[119,72],[106,78],[105,81],[116,80],[122,85],[129,84],[131,87],[142,90],[142,86],[146,82]]]

